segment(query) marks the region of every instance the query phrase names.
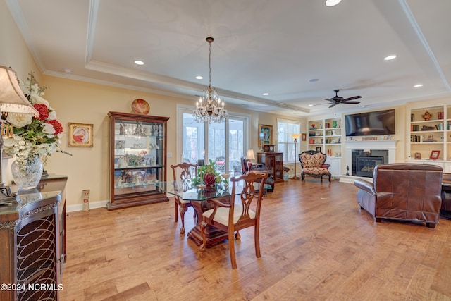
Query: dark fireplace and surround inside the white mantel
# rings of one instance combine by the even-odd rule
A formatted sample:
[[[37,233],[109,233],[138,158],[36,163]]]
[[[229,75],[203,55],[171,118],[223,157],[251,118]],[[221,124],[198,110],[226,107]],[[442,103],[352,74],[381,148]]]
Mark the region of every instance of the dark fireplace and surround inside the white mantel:
[[[352,176],[373,178],[374,168],[388,163],[388,150],[352,149]]]

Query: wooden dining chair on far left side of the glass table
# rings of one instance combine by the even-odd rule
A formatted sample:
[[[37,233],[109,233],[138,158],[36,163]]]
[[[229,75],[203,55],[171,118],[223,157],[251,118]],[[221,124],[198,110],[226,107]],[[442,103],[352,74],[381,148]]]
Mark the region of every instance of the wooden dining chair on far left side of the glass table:
[[[171,165],[173,180],[174,182],[178,179],[182,180],[183,183],[187,185],[190,184],[192,174],[196,173],[197,165],[191,164],[187,162],[183,162],[177,165]],[[180,220],[182,221],[182,228],[180,228],[180,234],[185,234],[185,212],[188,210],[188,207],[191,207],[190,201],[185,201],[184,199],[180,199],[177,195],[174,197],[175,204],[175,214],[174,220],[175,223],[178,221],[178,212],[180,211]],[[194,219],[196,218],[196,212],[194,211]]]

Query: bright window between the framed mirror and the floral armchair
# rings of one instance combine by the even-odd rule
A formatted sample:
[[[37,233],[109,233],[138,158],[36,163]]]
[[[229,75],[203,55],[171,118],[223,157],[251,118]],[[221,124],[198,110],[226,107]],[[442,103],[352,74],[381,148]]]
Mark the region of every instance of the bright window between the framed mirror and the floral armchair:
[[[277,119],[278,128],[278,140],[277,147],[278,152],[283,152],[283,162],[292,163],[296,160],[297,154],[295,152],[299,150],[300,139],[296,142],[290,136],[290,134],[301,133],[301,122],[300,121],[290,121],[286,119]]]

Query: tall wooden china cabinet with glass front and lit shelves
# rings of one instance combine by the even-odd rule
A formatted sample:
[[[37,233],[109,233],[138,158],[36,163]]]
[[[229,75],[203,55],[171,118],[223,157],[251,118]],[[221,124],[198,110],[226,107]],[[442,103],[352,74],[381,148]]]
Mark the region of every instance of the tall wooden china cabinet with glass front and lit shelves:
[[[166,125],[168,117],[109,112],[110,202],[121,209],[168,201],[156,187],[166,181]]]

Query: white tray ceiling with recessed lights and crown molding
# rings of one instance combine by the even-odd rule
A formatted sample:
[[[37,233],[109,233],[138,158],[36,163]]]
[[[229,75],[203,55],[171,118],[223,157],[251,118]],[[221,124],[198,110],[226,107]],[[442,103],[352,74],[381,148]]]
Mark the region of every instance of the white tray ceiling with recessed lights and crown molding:
[[[194,105],[209,82],[211,35],[211,85],[226,106],[309,116],[451,99],[450,0],[342,0],[334,7],[324,0],[6,4],[47,75],[185,97]],[[389,54],[397,59],[384,61]],[[418,83],[424,86],[414,88]],[[323,99],[334,89],[345,98],[361,95],[361,104],[329,109]]]

